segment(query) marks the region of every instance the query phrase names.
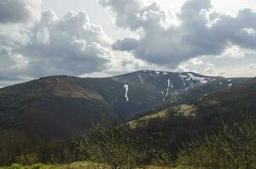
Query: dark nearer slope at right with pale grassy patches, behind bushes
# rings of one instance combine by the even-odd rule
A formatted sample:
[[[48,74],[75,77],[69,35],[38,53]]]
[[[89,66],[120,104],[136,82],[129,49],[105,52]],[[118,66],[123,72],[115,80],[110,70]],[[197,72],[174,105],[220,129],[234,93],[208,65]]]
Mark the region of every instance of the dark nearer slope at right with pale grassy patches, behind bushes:
[[[232,80],[228,79],[228,82]],[[185,97],[192,98],[197,90],[201,89],[191,90]],[[142,135],[143,144],[151,149],[171,150],[175,156],[184,145],[195,139],[218,134],[223,130],[223,124],[237,125],[245,123],[248,117],[255,119],[255,110],[256,78],[253,78],[241,83],[238,81],[236,85],[200,99],[180,101],[179,104],[144,113],[127,124],[135,130],[134,133]]]

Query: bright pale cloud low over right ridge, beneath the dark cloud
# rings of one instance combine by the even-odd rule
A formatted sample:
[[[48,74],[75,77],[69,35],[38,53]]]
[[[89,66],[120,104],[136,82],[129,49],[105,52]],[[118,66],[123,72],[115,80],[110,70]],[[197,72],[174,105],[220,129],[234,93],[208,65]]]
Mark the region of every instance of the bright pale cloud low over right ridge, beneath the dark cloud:
[[[179,64],[175,71],[196,72],[210,76],[254,77],[256,74],[256,52],[244,50],[240,55],[240,50],[237,53],[236,48],[231,46],[220,56],[211,56],[211,59],[209,56],[192,58]],[[236,57],[230,57],[230,55]]]

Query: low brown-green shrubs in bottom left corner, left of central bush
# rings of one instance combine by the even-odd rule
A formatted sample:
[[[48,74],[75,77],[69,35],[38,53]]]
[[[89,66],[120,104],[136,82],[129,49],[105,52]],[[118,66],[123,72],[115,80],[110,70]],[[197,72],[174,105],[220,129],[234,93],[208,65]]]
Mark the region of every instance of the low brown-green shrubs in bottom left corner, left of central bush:
[[[14,130],[0,132],[0,166],[70,163],[77,160],[73,150],[70,140],[42,141]]]

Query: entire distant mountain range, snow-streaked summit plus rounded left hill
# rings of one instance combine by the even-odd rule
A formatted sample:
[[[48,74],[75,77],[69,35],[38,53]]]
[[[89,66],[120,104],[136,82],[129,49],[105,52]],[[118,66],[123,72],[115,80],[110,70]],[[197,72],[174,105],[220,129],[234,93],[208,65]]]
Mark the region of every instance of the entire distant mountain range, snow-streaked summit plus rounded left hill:
[[[194,73],[138,71],[110,78],[51,76],[0,90],[0,129],[44,139],[81,134],[103,115],[121,121],[239,85]]]

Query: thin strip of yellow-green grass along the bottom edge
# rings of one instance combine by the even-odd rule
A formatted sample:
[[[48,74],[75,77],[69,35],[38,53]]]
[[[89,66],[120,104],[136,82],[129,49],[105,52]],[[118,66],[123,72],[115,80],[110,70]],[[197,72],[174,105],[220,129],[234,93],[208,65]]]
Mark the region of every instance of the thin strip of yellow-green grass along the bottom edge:
[[[0,166],[0,169],[110,169],[108,166],[97,165],[91,162],[74,162],[67,165],[42,165],[35,164],[33,166],[21,166],[13,164],[12,166]],[[169,166],[141,166],[137,169],[192,169],[187,166],[169,167]]]

